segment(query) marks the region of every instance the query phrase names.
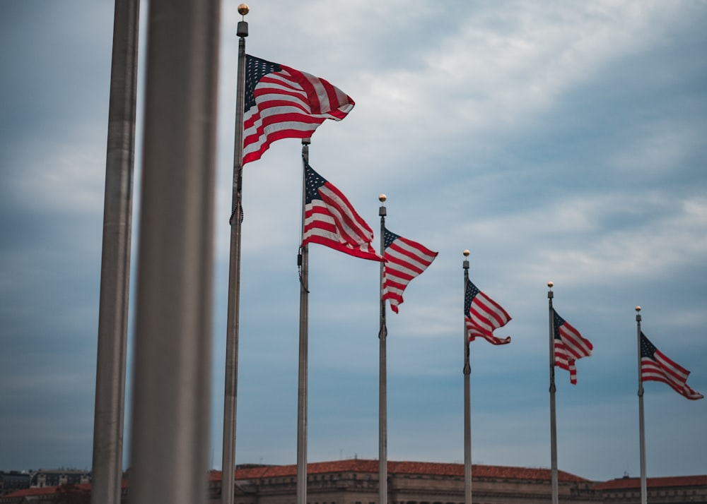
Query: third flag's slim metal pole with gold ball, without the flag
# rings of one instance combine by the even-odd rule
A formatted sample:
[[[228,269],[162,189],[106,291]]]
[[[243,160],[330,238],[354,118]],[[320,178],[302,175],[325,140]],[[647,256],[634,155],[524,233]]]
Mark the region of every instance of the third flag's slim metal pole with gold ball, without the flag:
[[[380,255],[385,256],[385,194],[378,196],[380,201]],[[385,262],[380,263],[380,328],[378,342],[380,347],[378,371],[378,503],[386,504],[388,496],[388,401],[387,401],[387,367],[385,340],[387,327],[385,325],[385,299],[383,299],[383,270]]]

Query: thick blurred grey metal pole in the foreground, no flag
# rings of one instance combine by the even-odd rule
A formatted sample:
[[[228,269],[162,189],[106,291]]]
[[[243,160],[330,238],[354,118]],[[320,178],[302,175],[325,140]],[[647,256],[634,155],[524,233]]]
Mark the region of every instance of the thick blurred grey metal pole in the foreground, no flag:
[[[218,0],[151,0],[130,501],[205,503]]]

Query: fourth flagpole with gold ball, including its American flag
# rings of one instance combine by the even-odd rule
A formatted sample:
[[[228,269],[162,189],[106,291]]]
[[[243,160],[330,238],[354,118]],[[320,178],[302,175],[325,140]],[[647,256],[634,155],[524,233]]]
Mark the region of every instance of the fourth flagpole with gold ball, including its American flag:
[[[508,344],[493,331],[510,322],[510,315],[469,280],[469,251],[464,251],[464,504],[472,504],[472,368],[469,365],[469,343],[481,337],[491,344]]]

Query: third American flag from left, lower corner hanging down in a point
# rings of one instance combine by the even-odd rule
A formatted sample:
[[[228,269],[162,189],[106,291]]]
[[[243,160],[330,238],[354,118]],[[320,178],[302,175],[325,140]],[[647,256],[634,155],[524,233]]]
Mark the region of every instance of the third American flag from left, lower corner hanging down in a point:
[[[387,229],[383,235],[383,245],[383,299],[389,299],[390,309],[398,313],[405,287],[432,264],[437,252]]]

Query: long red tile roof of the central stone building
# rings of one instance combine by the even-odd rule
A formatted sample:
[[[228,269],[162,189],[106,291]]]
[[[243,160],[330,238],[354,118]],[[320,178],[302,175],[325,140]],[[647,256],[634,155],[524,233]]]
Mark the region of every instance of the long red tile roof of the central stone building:
[[[370,472],[378,473],[378,460],[349,459],[333,462],[310,462],[307,464],[307,474],[328,474],[334,472]],[[235,479],[278,478],[296,476],[296,465],[272,465],[264,467],[241,467],[235,471]],[[388,461],[388,474],[426,474],[428,476],[464,476],[464,464],[446,464],[443,462],[394,462]],[[551,479],[550,469],[534,469],[530,467],[508,467],[496,465],[472,465],[472,474],[477,478],[505,479]],[[211,472],[211,481],[221,481],[221,472]],[[564,471],[558,471],[559,481],[590,480],[575,476]]]

